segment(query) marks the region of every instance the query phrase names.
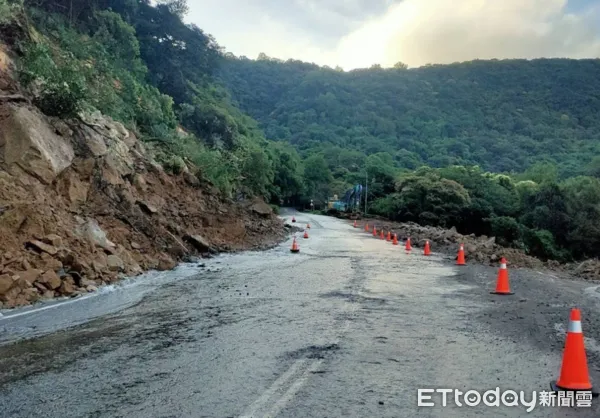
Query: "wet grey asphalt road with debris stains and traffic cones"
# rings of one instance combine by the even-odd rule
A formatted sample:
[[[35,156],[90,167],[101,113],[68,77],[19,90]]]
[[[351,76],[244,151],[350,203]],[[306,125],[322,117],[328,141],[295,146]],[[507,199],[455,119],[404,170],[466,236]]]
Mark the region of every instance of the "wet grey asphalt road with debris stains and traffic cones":
[[[284,214],[289,216],[290,213]],[[266,252],[3,312],[2,417],[598,417],[591,408],[417,405],[417,390],[548,390],[572,306],[600,385],[597,285],[497,270],[311,223]],[[435,252],[435,248],[433,249]],[[539,395],[538,395],[539,396]],[[464,402],[464,401],[461,401]]]

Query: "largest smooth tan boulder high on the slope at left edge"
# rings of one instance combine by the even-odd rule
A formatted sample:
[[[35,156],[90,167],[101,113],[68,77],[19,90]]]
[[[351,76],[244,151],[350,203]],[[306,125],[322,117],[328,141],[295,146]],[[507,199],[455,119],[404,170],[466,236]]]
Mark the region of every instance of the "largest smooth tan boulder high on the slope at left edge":
[[[7,106],[8,117],[0,124],[0,168],[18,167],[44,184],[71,165],[75,153],[70,141],[54,133],[37,110]]]

